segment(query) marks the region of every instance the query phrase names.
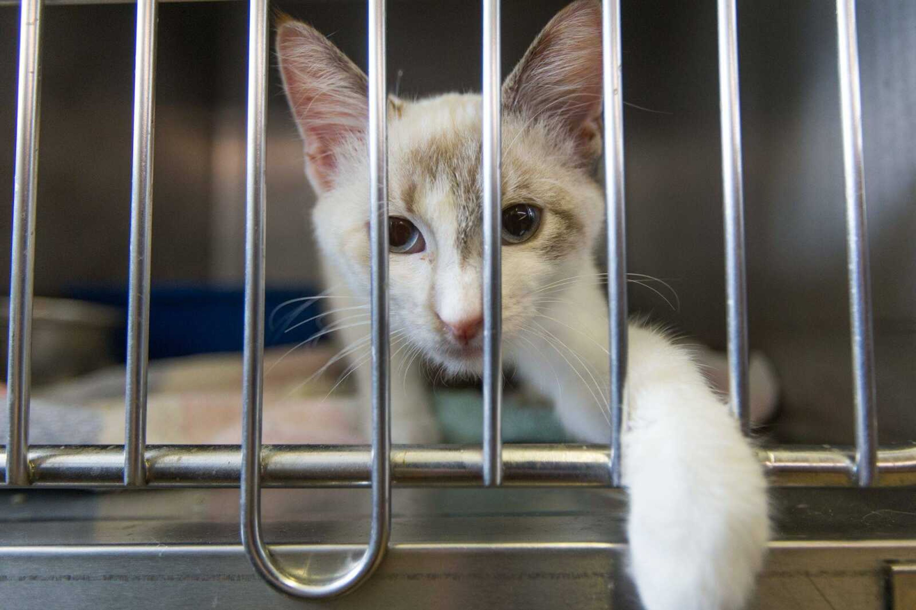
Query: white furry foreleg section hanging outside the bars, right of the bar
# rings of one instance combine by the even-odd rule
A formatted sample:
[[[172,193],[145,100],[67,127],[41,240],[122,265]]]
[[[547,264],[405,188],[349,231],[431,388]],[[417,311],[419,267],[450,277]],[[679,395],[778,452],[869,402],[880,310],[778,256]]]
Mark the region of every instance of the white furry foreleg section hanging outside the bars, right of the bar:
[[[750,443],[690,356],[631,326],[624,484],[632,572],[649,610],[736,610],[769,539]]]

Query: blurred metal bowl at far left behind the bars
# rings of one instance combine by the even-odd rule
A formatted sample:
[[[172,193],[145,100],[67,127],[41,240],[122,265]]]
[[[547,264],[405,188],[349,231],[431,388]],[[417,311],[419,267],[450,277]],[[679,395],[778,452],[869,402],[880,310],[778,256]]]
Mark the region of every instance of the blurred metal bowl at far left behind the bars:
[[[117,362],[120,309],[82,300],[37,297],[32,322],[32,384],[46,385]],[[9,299],[0,299],[3,369],[9,352]],[[5,375],[4,375],[5,379]]]

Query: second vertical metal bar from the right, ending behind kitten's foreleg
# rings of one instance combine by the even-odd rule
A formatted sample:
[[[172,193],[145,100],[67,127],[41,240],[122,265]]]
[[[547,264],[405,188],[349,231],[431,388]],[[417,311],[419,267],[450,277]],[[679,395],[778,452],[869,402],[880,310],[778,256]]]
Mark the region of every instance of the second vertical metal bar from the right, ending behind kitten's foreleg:
[[[725,327],[728,397],[747,433],[747,285],[744,183],[741,166],[741,100],[735,0],[719,0],[719,120],[722,132],[722,202],[725,217]]]

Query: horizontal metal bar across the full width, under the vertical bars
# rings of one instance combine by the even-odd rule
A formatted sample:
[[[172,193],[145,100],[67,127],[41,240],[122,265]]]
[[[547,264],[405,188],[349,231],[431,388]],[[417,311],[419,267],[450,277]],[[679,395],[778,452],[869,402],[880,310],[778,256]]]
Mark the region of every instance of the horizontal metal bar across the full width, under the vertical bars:
[[[607,445],[508,444],[503,485],[610,485]],[[852,447],[778,446],[758,450],[776,486],[855,486]],[[369,487],[368,445],[264,445],[266,487]],[[0,480],[5,476],[0,450]],[[28,463],[35,487],[123,487],[120,445],[33,445]],[[237,487],[238,445],[148,445],[147,486]],[[480,445],[400,445],[391,451],[392,482],[401,487],[482,485]],[[916,444],[878,452],[875,485],[916,485]],[[4,485],[0,485],[2,488]]]

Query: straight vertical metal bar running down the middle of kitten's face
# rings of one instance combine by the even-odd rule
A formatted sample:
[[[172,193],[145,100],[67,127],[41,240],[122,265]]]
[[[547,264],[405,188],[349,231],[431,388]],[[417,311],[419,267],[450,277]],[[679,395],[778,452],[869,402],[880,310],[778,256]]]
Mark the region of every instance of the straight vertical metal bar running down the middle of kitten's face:
[[[502,483],[502,177],[499,0],[484,0],[484,485]]]

